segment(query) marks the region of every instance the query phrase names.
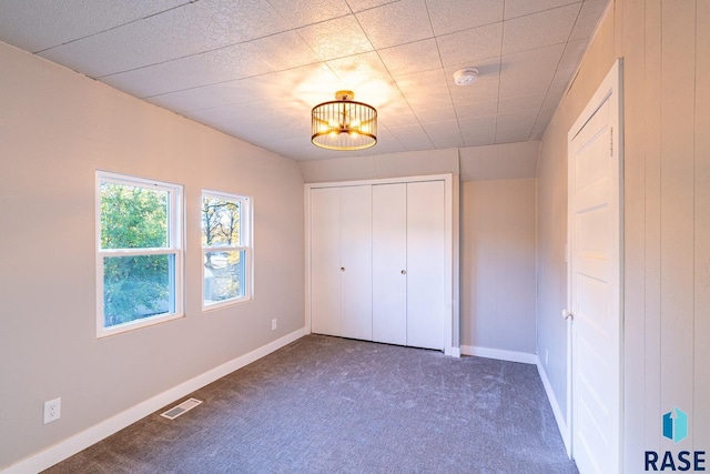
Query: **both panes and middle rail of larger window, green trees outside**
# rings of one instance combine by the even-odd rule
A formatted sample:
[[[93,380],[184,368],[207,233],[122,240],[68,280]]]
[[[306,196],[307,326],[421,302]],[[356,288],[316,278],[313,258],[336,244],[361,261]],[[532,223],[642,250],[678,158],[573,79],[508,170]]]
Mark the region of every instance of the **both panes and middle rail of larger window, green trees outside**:
[[[176,191],[108,178],[99,191],[103,329],[175,313]]]

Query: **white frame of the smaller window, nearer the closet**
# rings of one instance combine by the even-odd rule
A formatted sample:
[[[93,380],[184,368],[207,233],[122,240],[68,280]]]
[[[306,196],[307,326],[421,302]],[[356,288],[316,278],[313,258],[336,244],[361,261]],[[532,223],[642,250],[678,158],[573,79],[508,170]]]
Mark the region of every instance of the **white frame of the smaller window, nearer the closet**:
[[[220,246],[202,246],[202,255],[201,255],[201,265],[202,265],[202,311],[210,312],[214,310],[219,310],[225,306],[231,306],[233,304],[241,304],[245,302],[250,302],[254,299],[254,241],[253,241],[253,199],[246,195],[239,195],[232,193],[225,193],[221,191],[210,191],[202,190],[202,195],[200,196],[200,233],[202,234],[202,203],[205,198],[220,199],[224,201],[231,201],[234,203],[239,203],[241,205],[240,213],[240,243],[239,245],[220,245]],[[201,235],[202,239],[202,235]],[[225,251],[237,251],[244,252],[245,263],[243,269],[244,280],[241,282],[244,284],[244,295],[230,297],[227,300],[222,300],[219,302],[206,303],[205,304],[205,284],[204,284],[204,261],[205,254],[207,252],[225,252]]]

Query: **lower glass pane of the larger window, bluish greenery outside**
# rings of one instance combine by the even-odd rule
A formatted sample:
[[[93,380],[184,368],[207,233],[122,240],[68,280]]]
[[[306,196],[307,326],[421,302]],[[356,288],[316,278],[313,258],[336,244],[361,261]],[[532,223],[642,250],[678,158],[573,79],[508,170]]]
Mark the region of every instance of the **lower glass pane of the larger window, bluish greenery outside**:
[[[174,312],[174,255],[103,259],[104,326]]]

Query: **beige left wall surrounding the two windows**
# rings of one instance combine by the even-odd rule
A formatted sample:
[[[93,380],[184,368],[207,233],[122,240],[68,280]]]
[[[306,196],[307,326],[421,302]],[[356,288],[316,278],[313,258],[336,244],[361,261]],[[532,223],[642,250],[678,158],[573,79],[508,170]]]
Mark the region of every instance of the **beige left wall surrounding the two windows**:
[[[304,213],[291,160],[2,43],[0,64],[2,470],[302,329]],[[97,340],[97,169],[184,184],[186,317]],[[202,189],[255,209],[254,301],[205,314]]]

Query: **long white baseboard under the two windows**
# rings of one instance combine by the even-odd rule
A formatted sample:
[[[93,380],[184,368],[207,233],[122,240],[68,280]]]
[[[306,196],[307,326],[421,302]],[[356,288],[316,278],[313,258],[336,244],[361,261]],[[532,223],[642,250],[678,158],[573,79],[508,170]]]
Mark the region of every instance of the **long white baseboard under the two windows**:
[[[276,341],[270,342],[254,351],[244,354],[240,357],[233,359],[220,366],[216,366],[194,379],[181,383],[163,393],[160,393],[152,399],[149,399],[138,405],[128,409],[114,416],[111,416],[103,422],[91,426],[88,430],[82,431],[44,451],[33,454],[20,461],[17,464],[9,466],[3,474],[33,474],[40,471],[44,471],[54,464],[64,461],[65,458],[79,453],[82,450],[100,442],[101,440],[109,437],[113,433],[123,430],[124,427],[135,423],[136,421],[150,415],[151,413],[162,409],[175,402],[178,399],[185,396],[195,390],[199,390],[252,362],[271,354],[272,352],[283,347],[286,344],[292,343],[306,334],[305,329],[294,331],[291,334],[286,334]]]

